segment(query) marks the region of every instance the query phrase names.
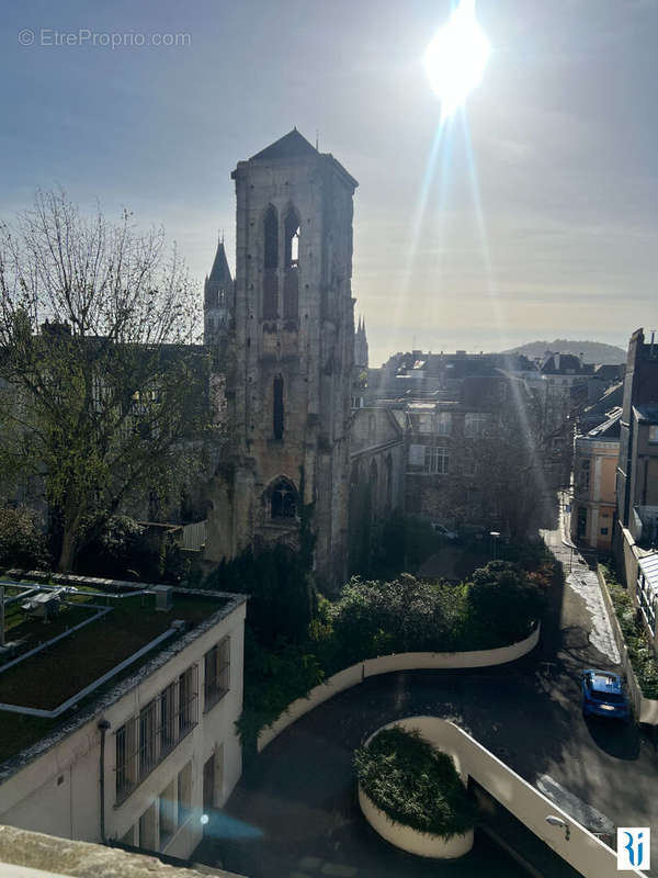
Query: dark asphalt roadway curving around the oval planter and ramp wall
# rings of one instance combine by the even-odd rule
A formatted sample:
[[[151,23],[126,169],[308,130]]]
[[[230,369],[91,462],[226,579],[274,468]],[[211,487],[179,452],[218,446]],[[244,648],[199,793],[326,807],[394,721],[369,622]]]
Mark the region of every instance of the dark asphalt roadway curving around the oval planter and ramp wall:
[[[568,572],[571,553],[560,529],[544,537]],[[571,564],[572,573],[585,574],[577,558]],[[552,596],[540,645],[519,662],[389,674],[336,696],[257,758],[209,828],[222,842],[204,845],[197,858],[212,864],[220,857],[227,869],[253,878],[524,874],[484,838],[458,865],[438,864],[395,851],[363,821],[355,804],[353,750],[386,722],[430,713],[455,720],[531,784],[548,785],[565,810],[586,813],[589,807],[594,821],[653,826],[658,866],[654,745],[635,727],[586,721],[581,714],[580,671],[614,667],[610,654],[592,645],[591,634],[591,607],[566,585]]]

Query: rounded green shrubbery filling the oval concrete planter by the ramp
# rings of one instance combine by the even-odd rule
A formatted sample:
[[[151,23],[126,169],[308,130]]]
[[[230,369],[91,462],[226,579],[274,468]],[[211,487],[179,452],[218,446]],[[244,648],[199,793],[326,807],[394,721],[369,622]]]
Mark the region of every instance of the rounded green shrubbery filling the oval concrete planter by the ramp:
[[[361,788],[392,820],[443,838],[476,823],[476,806],[446,753],[399,725],[354,753]]]

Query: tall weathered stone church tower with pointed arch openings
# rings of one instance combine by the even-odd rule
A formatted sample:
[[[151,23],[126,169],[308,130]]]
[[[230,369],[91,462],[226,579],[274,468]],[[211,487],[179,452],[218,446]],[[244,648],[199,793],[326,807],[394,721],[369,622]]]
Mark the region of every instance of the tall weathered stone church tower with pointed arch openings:
[[[296,128],[232,179],[231,450],[215,479],[206,558],[296,547],[310,505],[316,575],[331,588],[347,575],[358,183]]]

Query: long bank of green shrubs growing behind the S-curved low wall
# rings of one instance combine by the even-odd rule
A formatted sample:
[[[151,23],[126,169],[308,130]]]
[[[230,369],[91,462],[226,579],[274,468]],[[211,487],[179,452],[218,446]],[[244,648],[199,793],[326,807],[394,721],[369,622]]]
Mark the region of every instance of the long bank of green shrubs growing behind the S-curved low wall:
[[[476,571],[473,584],[427,583],[409,574],[384,583],[353,578],[338,601],[319,599],[304,641],[263,642],[254,628],[246,643],[242,743],[253,751],[260,730],[292,701],[366,658],[488,650],[522,640],[541,618],[549,582],[548,574],[529,575],[501,561]]]

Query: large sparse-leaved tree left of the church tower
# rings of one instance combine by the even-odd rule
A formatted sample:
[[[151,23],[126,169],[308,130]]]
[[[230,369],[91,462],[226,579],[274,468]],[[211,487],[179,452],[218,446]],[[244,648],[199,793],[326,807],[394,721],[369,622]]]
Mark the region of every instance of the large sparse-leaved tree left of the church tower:
[[[0,223],[0,480],[43,482],[59,570],[206,428],[198,297],[162,230],[64,192]]]

